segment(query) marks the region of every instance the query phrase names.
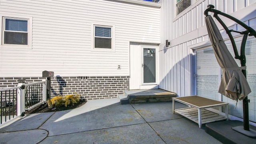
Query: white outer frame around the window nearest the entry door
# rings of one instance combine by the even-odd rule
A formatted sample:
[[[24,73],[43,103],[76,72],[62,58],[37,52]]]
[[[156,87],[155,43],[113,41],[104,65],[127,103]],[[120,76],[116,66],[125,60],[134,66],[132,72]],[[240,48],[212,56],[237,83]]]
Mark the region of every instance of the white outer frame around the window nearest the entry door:
[[[95,41],[95,26],[99,27],[106,27],[111,28],[111,48],[95,48],[94,41]],[[104,23],[92,23],[92,36],[91,36],[91,50],[92,51],[98,51],[98,52],[115,52],[116,46],[115,46],[115,25],[114,24],[104,24]]]

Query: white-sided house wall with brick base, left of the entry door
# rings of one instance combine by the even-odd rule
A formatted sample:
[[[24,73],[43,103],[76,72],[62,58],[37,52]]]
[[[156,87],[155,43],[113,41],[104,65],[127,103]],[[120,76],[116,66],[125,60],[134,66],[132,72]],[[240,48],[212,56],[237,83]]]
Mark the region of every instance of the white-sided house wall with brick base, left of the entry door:
[[[48,70],[51,97],[117,97],[129,90],[130,42],[160,43],[160,7],[142,0],[0,0],[0,88],[41,81]],[[29,19],[28,46],[3,44],[3,17]],[[112,26],[112,50],[93,49],[94,24]]]

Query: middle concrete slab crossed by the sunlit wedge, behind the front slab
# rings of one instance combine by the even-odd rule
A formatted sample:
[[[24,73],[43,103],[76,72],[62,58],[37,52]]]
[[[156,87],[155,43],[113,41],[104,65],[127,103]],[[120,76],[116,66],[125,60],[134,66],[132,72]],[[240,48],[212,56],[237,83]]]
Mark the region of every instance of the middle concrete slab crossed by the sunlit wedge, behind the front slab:
[[[131,105],[106,106],[90,112],[78,113],[78,115],[70,118],[61,119],[64,115],[74,114],[75,112],[74,110],[56,112],[40,128],[48,130],[49,136],[54,136],[146,123]]]

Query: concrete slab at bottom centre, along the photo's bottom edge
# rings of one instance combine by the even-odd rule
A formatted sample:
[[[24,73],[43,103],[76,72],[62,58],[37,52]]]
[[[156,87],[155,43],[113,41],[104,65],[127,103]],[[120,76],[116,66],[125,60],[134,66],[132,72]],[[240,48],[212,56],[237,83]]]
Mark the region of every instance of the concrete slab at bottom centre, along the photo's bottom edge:
[[[165,144],[148,124],[49,136],[41,144]]]

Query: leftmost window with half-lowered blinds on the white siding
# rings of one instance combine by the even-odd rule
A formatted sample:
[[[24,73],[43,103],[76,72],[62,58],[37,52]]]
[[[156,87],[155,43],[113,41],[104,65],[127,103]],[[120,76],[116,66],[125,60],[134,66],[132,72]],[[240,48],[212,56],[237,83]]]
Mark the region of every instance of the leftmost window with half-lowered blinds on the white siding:
[[[4,18],[4,44],[28,45],[28,20]]]

